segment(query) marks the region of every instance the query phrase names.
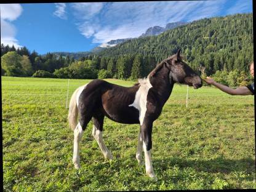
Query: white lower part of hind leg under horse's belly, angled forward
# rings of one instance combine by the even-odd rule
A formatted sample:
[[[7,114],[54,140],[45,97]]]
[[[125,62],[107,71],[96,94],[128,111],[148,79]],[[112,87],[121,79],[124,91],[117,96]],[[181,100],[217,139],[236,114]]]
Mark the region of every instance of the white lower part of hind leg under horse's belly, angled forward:
[[[100,147],[100,150],[102,151],[104,158],[105,159],[113,159],[113,155],[110,153],[108,148],[106,148],[106,145],[103,142],[102,131],[97,130],[96,127],[94,126],[94,128],[92,129],[92,135],[94,136],[95,140],[97,141],[98,146]]]

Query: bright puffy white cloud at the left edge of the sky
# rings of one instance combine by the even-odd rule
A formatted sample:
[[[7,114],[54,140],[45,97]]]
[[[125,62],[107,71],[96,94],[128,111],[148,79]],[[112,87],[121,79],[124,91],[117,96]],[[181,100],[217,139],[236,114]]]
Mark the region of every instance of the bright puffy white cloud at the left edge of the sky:
[[[1,10],[1,43],[7,46],[14,45],[17,47],[22,47],[19,45],[15,35],[17,30],[12,21],[16,20],[22,14],[22,6],[20,4],[0,4]]]

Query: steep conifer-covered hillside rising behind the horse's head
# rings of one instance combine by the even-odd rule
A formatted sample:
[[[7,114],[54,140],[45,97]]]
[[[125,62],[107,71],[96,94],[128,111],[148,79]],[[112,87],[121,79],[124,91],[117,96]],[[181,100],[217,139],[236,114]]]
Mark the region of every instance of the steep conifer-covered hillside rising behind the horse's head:
[[[204,18],[158,36],[132,39],[102,50],[98,56],[117,60],[127,54],[142,54],[160,62],[182,48],[195,70],[205,66],[207,74],[223,69],[246,71],[253,60],[252,25],[252,14]]]

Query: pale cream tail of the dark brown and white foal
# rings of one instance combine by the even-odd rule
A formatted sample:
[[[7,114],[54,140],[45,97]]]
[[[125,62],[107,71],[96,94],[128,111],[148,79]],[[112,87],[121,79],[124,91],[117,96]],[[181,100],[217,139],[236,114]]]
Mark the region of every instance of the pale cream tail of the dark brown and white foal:
[[[76,94],[81,87],[78,87],[70,98],[70,106],[68,109],[68,124],[72,130],[76,129],[78,121],[78,106],[76,105]]]

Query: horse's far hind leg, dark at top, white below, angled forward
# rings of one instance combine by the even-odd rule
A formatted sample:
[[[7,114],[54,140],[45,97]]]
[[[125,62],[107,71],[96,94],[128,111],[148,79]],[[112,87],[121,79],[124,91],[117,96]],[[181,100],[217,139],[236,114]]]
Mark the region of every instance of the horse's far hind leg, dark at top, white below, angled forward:
[[[106,148],[106,145],[103,142],[103,138],[102,138],[104,115],[100,114],[100,115],[94,116],[92,119],[94,120],[94,128],[92,129],[92,135],[97,141],[98,146],[100,147],[100,150],[102,151],[104,158],[113,159],[113,155],[110,153],[108,148]]]

